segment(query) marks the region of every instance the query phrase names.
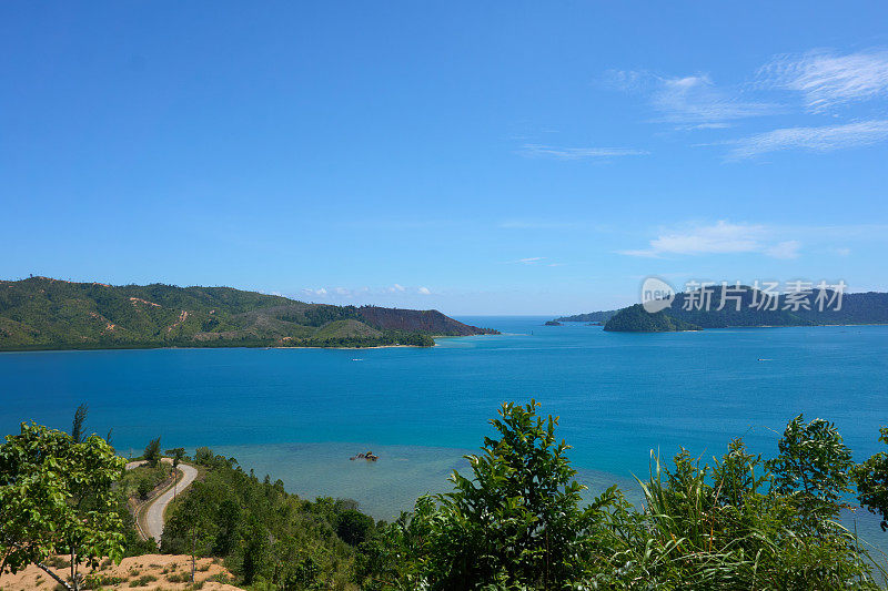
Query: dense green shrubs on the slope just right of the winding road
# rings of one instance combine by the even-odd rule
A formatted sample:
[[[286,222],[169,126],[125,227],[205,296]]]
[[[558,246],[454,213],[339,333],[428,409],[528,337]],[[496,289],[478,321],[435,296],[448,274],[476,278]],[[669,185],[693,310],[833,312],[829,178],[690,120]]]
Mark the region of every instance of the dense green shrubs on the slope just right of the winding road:
[[[347,542],[360,543],[375,529],[357,503],[302,500],[280,480],[261,481],[206,448],[195,460],[206,477],[168,510],[162,551],[222,557],[242,584],[262,589],[353,584],[355,552]]]

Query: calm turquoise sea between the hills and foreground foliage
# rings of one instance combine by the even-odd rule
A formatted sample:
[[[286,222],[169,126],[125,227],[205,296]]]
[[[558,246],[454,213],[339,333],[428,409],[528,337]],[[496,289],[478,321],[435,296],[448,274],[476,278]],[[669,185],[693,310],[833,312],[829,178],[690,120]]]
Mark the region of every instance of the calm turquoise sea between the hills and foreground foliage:
[[[799,412],[835,421],[858,460],[888,425],[888,326],[614,334],[543,317],[460,319],[504,334],[431,349],[0,354],[0,431],[23,419],[68,429],[85,401],[89,428],[113,428],[123,454],[157,436],[164,448],[206,445],[293,492],[351,497],[392,518],[447,489],[504,400],[535,398],[558,415],[594,490],[637,490],[652,450],[708,458],[743,437],[773,455]],[[380,461],[349,460],[366,450]]]

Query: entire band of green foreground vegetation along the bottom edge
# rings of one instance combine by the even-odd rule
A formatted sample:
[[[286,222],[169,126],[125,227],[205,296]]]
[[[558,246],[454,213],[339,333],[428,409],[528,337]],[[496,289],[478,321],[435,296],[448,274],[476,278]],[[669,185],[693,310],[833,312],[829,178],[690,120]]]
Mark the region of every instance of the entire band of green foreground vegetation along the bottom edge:
[[[886,518],[888,454],[855,466],[827,421],[793,419],[770,460],[739,439],[712,463],[685,450],[668,466],[653,457],[640,507],[616,487],[584,506],[557,419],[537,407],[503,405],[496,437],[467,457],[471,473],[454,472],[452,492],[421,497],[394,523],[374,523],[354,501],[302,500],[200,448],[202,479],[168,510],[162,550],[224,558],[238,584],[282,591],[839,590],[877,589],[886,575],[885,557],[836,518],[855,483]],[[125,500],[165,468],[121,477],[123,462],[97,436],[75,442],[24,424],[8,436],[0,577],[64,553],[70,575],[41,568],[82,588],[79,564],[155,551],[135,539]]]

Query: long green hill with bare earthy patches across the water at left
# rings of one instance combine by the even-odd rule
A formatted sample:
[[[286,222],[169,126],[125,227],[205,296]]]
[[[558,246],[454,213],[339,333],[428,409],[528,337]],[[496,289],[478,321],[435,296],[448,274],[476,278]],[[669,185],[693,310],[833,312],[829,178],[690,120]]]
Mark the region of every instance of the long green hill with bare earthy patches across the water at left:
[[[495,334],[437,310],[306,304],[231,287],[0,282],[0,350],[434,345]]]

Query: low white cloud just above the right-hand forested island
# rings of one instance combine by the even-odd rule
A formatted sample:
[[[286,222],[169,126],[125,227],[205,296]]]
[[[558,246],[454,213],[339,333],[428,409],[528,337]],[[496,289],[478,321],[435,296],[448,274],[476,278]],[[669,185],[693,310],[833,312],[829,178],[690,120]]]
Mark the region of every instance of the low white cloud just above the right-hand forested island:
[[[770,232],[761,225],[730,224],[696,225],[660,234],[648,248],[620,251],[629,256],[659,258],[665,255],[703,255],[760,253],[775,258],[795,258],[801,244],[797,241],[769,242]]]

